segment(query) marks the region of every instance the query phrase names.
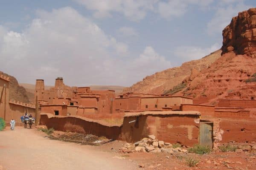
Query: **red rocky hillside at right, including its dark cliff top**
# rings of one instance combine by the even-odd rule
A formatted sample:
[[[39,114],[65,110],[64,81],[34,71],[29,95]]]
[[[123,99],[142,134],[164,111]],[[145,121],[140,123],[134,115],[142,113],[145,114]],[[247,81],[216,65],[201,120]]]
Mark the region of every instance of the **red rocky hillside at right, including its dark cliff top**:
[[[256,99],[256,8],[239,12],[223,30],[222,56],[193,75],[177,94],[205,98]],[[184,81],[185,83],[186,81]]]

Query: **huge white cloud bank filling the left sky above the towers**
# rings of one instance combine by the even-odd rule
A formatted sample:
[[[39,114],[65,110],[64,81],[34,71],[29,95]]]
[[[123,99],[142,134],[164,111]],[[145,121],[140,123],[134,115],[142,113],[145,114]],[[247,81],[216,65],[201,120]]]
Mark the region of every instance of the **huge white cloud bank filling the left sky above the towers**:
[[[1,71],[50,85],[56,77],[67,85],[131,85],[171,66],[152,47],[131,55],[125,43],[69,7],[38,11],[22,32],[0,26],[0,56]]]

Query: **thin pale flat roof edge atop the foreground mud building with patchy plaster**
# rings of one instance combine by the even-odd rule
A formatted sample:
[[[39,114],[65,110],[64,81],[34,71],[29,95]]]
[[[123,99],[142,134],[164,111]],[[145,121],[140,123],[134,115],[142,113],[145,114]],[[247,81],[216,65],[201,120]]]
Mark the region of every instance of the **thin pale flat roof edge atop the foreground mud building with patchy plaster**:
[[[198,111],[144,111],[138,113],[126,113],[125,117],[143,115],[201,115]]]

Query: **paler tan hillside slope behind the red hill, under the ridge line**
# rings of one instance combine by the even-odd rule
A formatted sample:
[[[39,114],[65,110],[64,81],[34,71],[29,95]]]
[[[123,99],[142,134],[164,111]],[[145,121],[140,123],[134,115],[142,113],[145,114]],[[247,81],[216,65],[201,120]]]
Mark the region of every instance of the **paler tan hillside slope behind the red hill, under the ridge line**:
[[[180,67],[169,68],[147,76],[143,81],[137,82],[130,88],[125,88],[123,92],[162,94],[189,77],[192,70],[193,72],[199,72],[208,68],[219,57],[221,57],[221,50],[201,59],[184,62]]]

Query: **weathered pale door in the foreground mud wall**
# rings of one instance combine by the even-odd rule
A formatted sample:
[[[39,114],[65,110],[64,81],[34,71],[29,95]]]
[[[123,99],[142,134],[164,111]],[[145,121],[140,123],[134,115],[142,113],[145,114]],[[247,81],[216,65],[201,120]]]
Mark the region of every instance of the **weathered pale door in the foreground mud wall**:
[[[212,148],[212,130],[213,130],[213,122],[209,121],[200,121],[200,129],[199,129],[199,144],[201,146],[207,146]]]

